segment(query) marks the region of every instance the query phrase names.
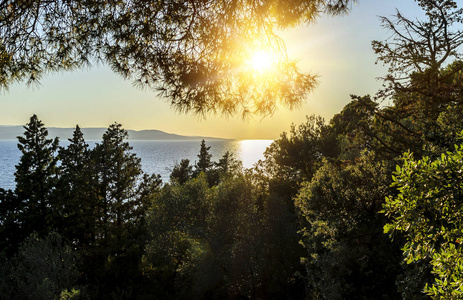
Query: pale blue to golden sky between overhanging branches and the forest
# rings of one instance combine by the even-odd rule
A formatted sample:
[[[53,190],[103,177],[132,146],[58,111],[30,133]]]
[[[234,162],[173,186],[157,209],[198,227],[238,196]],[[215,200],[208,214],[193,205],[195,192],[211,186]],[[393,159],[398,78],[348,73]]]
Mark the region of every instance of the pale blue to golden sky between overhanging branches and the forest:
[[[40,85],[14,84],[0,91],[0,125],[24,125],[37,114],[46,127],[107,127],[114,122],[126,129],[157,129],[169,133],[229,139],[277,139],[291,124],[308,115],[329,121],[350,102],[350,95],[374,95],[386,67],[375,64],[372,40],[385,40],[378,16],[395,9],[406,17],[422,15],[413,0],[358,0],[349,14],[322,16],[315,24],[282,32],[289,56],[298,67],[319,76],[318,86],[295,110],[280,107],[272,116],[242,120],[209,115],[199,119],[179,114],[156,92],[141,90],[112,73],[105,65],[56,73]]]

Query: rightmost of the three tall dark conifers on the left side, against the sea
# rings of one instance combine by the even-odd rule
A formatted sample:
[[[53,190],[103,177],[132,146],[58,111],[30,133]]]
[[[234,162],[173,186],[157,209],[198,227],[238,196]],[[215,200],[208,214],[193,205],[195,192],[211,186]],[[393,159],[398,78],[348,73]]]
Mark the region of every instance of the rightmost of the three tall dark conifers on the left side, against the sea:
[[[114,123],[90,154],[95,219],[84,272],[95,298],[131,298],[143,277],[139,266],[146,243],[146,210],[161,180],[143,175],[127,137],[121,124]]]

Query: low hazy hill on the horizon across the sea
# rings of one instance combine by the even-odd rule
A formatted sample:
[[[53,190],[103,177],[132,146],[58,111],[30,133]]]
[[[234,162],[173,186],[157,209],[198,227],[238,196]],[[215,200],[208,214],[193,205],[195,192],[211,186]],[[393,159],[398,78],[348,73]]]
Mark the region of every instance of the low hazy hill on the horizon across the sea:
[[[58,128],[47,127],[49,137],[59,137],[60,140],[65,140],[72,137],[75,128]],[[84,138],[87,141],[100,141],[106,128],[81,128],[84,133]],[[225,140],[213,137],[202,136],[184,136],[178,134],[167,133],[161,130],[127,130],[129,133],[129,140]],[[22,136],[24,133],[23,126],[6,126],[0,125],[0,140],[16,140],[17,136]]]

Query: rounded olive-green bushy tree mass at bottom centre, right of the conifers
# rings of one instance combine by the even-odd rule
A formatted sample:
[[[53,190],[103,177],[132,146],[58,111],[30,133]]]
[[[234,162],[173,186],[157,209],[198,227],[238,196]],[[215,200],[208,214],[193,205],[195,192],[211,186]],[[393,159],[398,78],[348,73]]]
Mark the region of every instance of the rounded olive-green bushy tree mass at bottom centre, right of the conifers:
[[[201,173],[162,188],[150,210],[151,238],[144,258],[145,272],[162,280],[158,294],[300,295],[301,280],[294,273],[303,272],[301,248],[291,202],[259,190],[249,176],[223,176],[210,186]]]

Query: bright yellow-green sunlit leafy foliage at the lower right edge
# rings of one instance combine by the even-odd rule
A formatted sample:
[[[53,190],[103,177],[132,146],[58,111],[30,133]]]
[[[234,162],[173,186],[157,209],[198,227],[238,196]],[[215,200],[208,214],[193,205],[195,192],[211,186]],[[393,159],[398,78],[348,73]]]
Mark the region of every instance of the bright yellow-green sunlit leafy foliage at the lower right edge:
[[[433,298],[461,297],[461,169],[463,146],[431,160],[405,154],[397,166],[393,186],[397,196],[384,205],[390,222],[386,233],[403,232],[404,258],[408,263],[429,260],[435,282],[426,287]]]

